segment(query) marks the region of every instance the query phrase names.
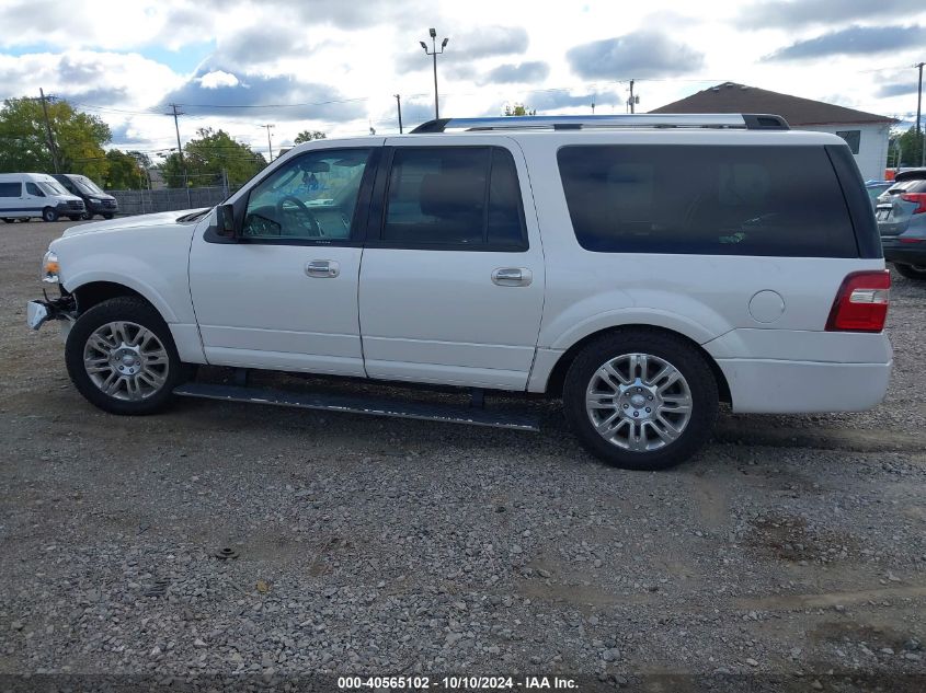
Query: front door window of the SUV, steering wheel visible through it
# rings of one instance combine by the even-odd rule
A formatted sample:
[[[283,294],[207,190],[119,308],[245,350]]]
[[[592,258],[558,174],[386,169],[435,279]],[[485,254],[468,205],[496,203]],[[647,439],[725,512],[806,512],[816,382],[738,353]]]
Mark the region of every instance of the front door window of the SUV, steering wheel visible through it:
[[[327,149],[287,162],[251,190],[245,239],[346,241],[370,149]]]

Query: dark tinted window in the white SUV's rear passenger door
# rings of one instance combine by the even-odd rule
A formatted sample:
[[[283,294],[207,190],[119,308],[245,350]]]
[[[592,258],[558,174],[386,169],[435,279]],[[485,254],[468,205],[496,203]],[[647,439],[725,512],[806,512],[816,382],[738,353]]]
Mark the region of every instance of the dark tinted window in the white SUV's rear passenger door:
[[[381,238],[424,247],[525,247],[511,153],[490,147],[397,149]]]

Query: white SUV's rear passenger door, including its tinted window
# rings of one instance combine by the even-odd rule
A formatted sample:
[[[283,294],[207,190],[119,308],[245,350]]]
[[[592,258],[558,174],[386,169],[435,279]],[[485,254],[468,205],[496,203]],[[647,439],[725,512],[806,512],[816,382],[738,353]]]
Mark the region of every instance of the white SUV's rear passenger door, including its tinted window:
[[[367,374],[525,389],[545,267],[519,148],[480,136],[387,148],[361,268]]]

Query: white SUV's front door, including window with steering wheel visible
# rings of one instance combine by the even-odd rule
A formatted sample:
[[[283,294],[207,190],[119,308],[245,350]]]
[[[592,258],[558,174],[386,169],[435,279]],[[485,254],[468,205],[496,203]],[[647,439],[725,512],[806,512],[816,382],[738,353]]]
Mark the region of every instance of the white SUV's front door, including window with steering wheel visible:
[[[232,198],[238,242],[194,239],[190,287],[209,363],[364,374],[357,280],[373,143],[282,163]]]

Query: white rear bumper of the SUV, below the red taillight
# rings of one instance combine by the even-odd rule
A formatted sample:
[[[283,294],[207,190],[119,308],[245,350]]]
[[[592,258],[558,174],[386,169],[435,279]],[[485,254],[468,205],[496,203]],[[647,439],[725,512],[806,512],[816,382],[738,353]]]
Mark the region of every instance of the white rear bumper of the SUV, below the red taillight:
[[[888,392],[893,361],[826,363],[718,359],[734,412],[799,414],[864,412]]]

